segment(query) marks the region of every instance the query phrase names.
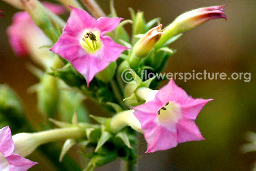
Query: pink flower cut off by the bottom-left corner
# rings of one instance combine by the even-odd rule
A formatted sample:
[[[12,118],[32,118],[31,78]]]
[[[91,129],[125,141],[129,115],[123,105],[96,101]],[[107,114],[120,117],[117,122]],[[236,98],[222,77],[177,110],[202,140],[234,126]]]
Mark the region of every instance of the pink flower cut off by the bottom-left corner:
[[[14,154],[14,142],[9,126],[0,129],[0,170],[1,171],[26,171],[33,165],[32,162],[19,154]]]

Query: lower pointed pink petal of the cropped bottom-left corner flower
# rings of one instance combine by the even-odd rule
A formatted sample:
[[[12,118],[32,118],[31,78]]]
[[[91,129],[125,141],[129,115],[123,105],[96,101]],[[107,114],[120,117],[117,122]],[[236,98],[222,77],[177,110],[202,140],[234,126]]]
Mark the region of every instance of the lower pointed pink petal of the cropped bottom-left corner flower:
[[[9,162],[10,171],[27,171],[33,165],[38,164],[38,162],[32,162],[18,154],[8,156],[6,157],[6,160]]]

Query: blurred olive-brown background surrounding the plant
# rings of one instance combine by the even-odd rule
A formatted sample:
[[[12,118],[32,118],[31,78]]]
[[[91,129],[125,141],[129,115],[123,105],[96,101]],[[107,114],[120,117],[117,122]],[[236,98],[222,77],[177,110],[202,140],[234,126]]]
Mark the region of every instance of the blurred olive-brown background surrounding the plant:
[[[98,0],[108,14],[109,1]],[[250,72],[250,82],[244,80],[176,80],[177,85],[194,98],[213,98],[198,115],[197,124],[206,141],[186,142],[168,151],[144,154],[146,142],[140,136],[138,168],[141,171],[248,171],[256,161],[256,152],[242,154],[240,147],[247,131],[256,131],[256,0],[115,0],[119,17],[130,18],[128,7],[145,11],[147,21],[161,17],[164,26],[184,11],[203,7],[225,6],[227,21],[211,20],[183,35],[171,48],[177,53],[169,60],[168,72]],[[12,22],[15,8],[0,1],[5,9],[0,19],[0,83],[7,83],[21,97],[26,115],[32,124],[38,123],[35,94],[29,86],[38,79],[26,70],[29,57],[15,57],[8,43],[6,28]],[[131,28],[128,26],[128,30]],[[100,113],[85,101],[88,112]],[[39,153],[30,158],[41,164],[31,171],[52,170],[51,162]],[[42,167],[44,165],[44,167]],[[119,170],[119,160],[97,171]]]

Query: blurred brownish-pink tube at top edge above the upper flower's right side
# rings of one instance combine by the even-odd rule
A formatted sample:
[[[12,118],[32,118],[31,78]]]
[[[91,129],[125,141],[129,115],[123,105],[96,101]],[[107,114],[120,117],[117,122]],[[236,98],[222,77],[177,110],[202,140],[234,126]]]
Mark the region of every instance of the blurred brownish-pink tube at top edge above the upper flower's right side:
[[[94,17],[106,17],[106,14],[102,11],[99,5],[95,2],[95,0],[82,0],[84,6],[93,14]]]

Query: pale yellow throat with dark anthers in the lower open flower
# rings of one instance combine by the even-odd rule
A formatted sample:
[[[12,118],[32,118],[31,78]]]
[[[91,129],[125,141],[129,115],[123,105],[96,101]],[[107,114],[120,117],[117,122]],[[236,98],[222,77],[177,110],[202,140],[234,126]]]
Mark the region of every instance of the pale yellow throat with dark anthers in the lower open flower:
[[[158,120],[163,124],[177,123],[182,117],[180,107],[172,102],[167,103],[157,112]]]

